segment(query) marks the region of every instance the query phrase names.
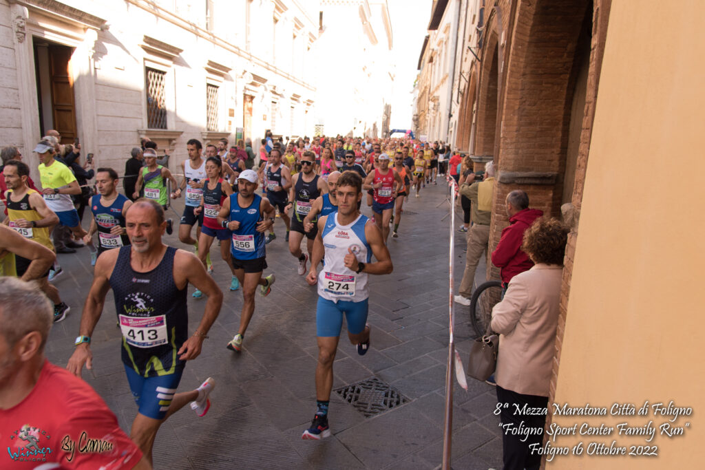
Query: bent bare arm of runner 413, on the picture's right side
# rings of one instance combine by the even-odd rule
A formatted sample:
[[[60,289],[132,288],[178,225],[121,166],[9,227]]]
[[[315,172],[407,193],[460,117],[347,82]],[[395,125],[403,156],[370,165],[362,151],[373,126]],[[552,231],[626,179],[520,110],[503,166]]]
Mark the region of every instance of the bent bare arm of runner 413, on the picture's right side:
[[[220,313],[223,304],[223,292],[219,289],[216,281],[211,276],[208,276],[205,266],[195,254],[185,252],[182,249],[178,250],[174,256],[173,271],[174,281],[183,276],[188,283],[194,285],[208,298],[201,323],[177,352],[179,359],[189,361],[190,359],[196,359],[201,354],[203,340],[206,339],[208,331]]]

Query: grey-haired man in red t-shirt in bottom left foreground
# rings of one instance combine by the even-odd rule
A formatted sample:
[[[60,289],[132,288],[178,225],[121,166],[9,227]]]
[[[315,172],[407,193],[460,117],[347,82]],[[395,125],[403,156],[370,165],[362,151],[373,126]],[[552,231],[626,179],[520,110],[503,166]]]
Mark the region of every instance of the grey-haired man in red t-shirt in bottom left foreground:
[[[53,316],[35,285],[0,278],[0,468],[151,468],[90,385],[44,357]]]

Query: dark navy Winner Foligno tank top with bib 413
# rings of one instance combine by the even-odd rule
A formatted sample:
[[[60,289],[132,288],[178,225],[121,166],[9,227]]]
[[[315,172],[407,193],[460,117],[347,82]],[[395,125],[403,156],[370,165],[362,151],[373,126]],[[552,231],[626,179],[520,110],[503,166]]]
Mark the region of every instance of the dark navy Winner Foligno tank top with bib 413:
[[[183,367],[176,352],[188,338],[184,287],[174,283],[176,248],[167,247],[148,273],[130,266],[131,247],[122,247],[110,276],[115,310],[123,333],[123,363],[144,377],[164,376]]]

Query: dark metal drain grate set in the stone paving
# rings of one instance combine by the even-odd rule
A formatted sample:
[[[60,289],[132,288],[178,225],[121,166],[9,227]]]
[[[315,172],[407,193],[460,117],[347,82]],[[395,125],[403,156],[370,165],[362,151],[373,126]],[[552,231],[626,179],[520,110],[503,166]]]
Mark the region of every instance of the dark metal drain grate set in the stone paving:
[[[338,388],[336,392],[365,418],[388,412],[409,401],[396,388],[376,377]]]

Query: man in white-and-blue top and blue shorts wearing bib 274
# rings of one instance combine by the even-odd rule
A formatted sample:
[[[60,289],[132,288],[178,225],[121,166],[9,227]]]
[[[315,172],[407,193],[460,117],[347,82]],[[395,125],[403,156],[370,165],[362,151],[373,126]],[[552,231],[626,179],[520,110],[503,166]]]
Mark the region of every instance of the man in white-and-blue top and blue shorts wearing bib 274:
[[[357,209],[362,199],[362,178],[345,171],[336,185],[338,211],[321,217],[313,247],[311,268],[306,280],[318,284],[316,330],[318,363],[316,366],[317,411],[302,439],[318,440],[331,435],[328,426],[328,405],[333,385],[333,361],[343,326],[348,324],[348,338],[357,345],[357,354],[369,350],[367,323],[369,274],[389,274],[392,260],[381,230]],[[324,257],[321,273],[317,266]],[[372,255],[377,260],[371,263]]]

